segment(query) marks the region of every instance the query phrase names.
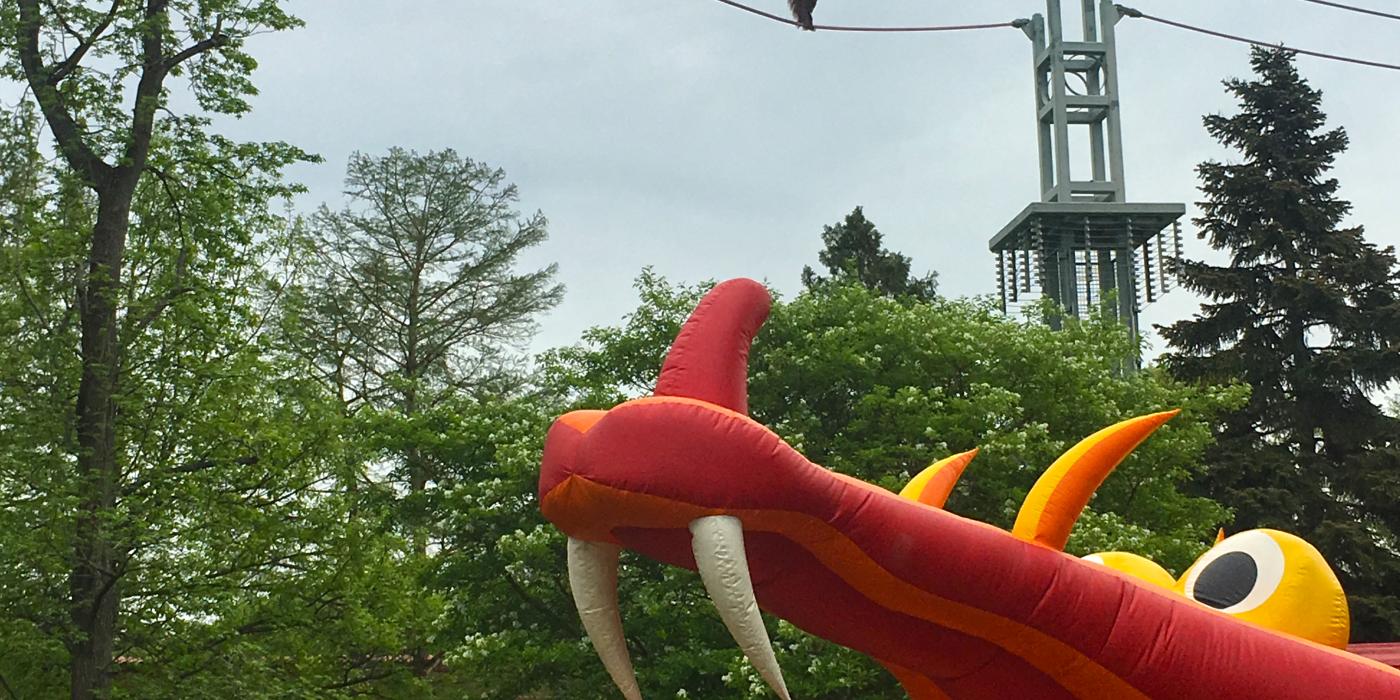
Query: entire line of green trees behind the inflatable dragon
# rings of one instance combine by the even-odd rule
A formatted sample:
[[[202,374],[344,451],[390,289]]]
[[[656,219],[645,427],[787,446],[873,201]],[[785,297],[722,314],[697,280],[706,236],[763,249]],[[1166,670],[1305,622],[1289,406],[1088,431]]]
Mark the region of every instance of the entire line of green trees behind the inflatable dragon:
[[[535,479],[549,421],[650,392],[708,283],[637,279],[617,325],[535,357],[564,290],[504,172],[451,150],[315,160],[235,143],[242,41],[276,3],[0,3],[0,697],[612,697]],[[1208,129],[1198,221],[1231,265],[1161,367],[1121,326],[1007,318],[937,294],[857,209],[755,343],[750,405],[813,461],[897,489],[981,447],[949,510],[1011,524],[1061,451],[1184,413],[1105,484],[1071,550],[1169,568],[1215,528],[1317,542],[1358,634],[1400,630],[1400,377],[1390,251],[1343,228],[1345,147],[1282,53]],[[172,92],[193,97],[172,111]],[[815,234],[815,232],[813,232]],[[818,239],[813,235],[813,248]],[[1042,309],[1053,314],[1054,309]],[[1326,330],[1322,333],[1320,330]],[[694,577],[624,559],[644,690],[764,697]],[[774,624],[795,696],[900,697],[864,658]],[[678,692],[680,689],[680,692]]]

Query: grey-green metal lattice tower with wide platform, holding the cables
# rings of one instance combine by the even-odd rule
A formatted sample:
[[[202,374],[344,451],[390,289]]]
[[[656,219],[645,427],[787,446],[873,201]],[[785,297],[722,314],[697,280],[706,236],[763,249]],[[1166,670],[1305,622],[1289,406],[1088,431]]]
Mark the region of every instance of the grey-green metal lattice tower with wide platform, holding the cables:
[[[1046,0],[1046,14],[1023,28],[1033,49],[1040,202],[988,246],[1002,309],[1036,295],[1079,318],[1102,307],[1135,337],[1141,304],[1170,288],[1186,206],[1127,200],[1113,34],[1120,17],[1112,0],[1079,3],[1081,41],[1065,39],[1060,0]],[[1071,154],[1088,162],[1071,167]]]

